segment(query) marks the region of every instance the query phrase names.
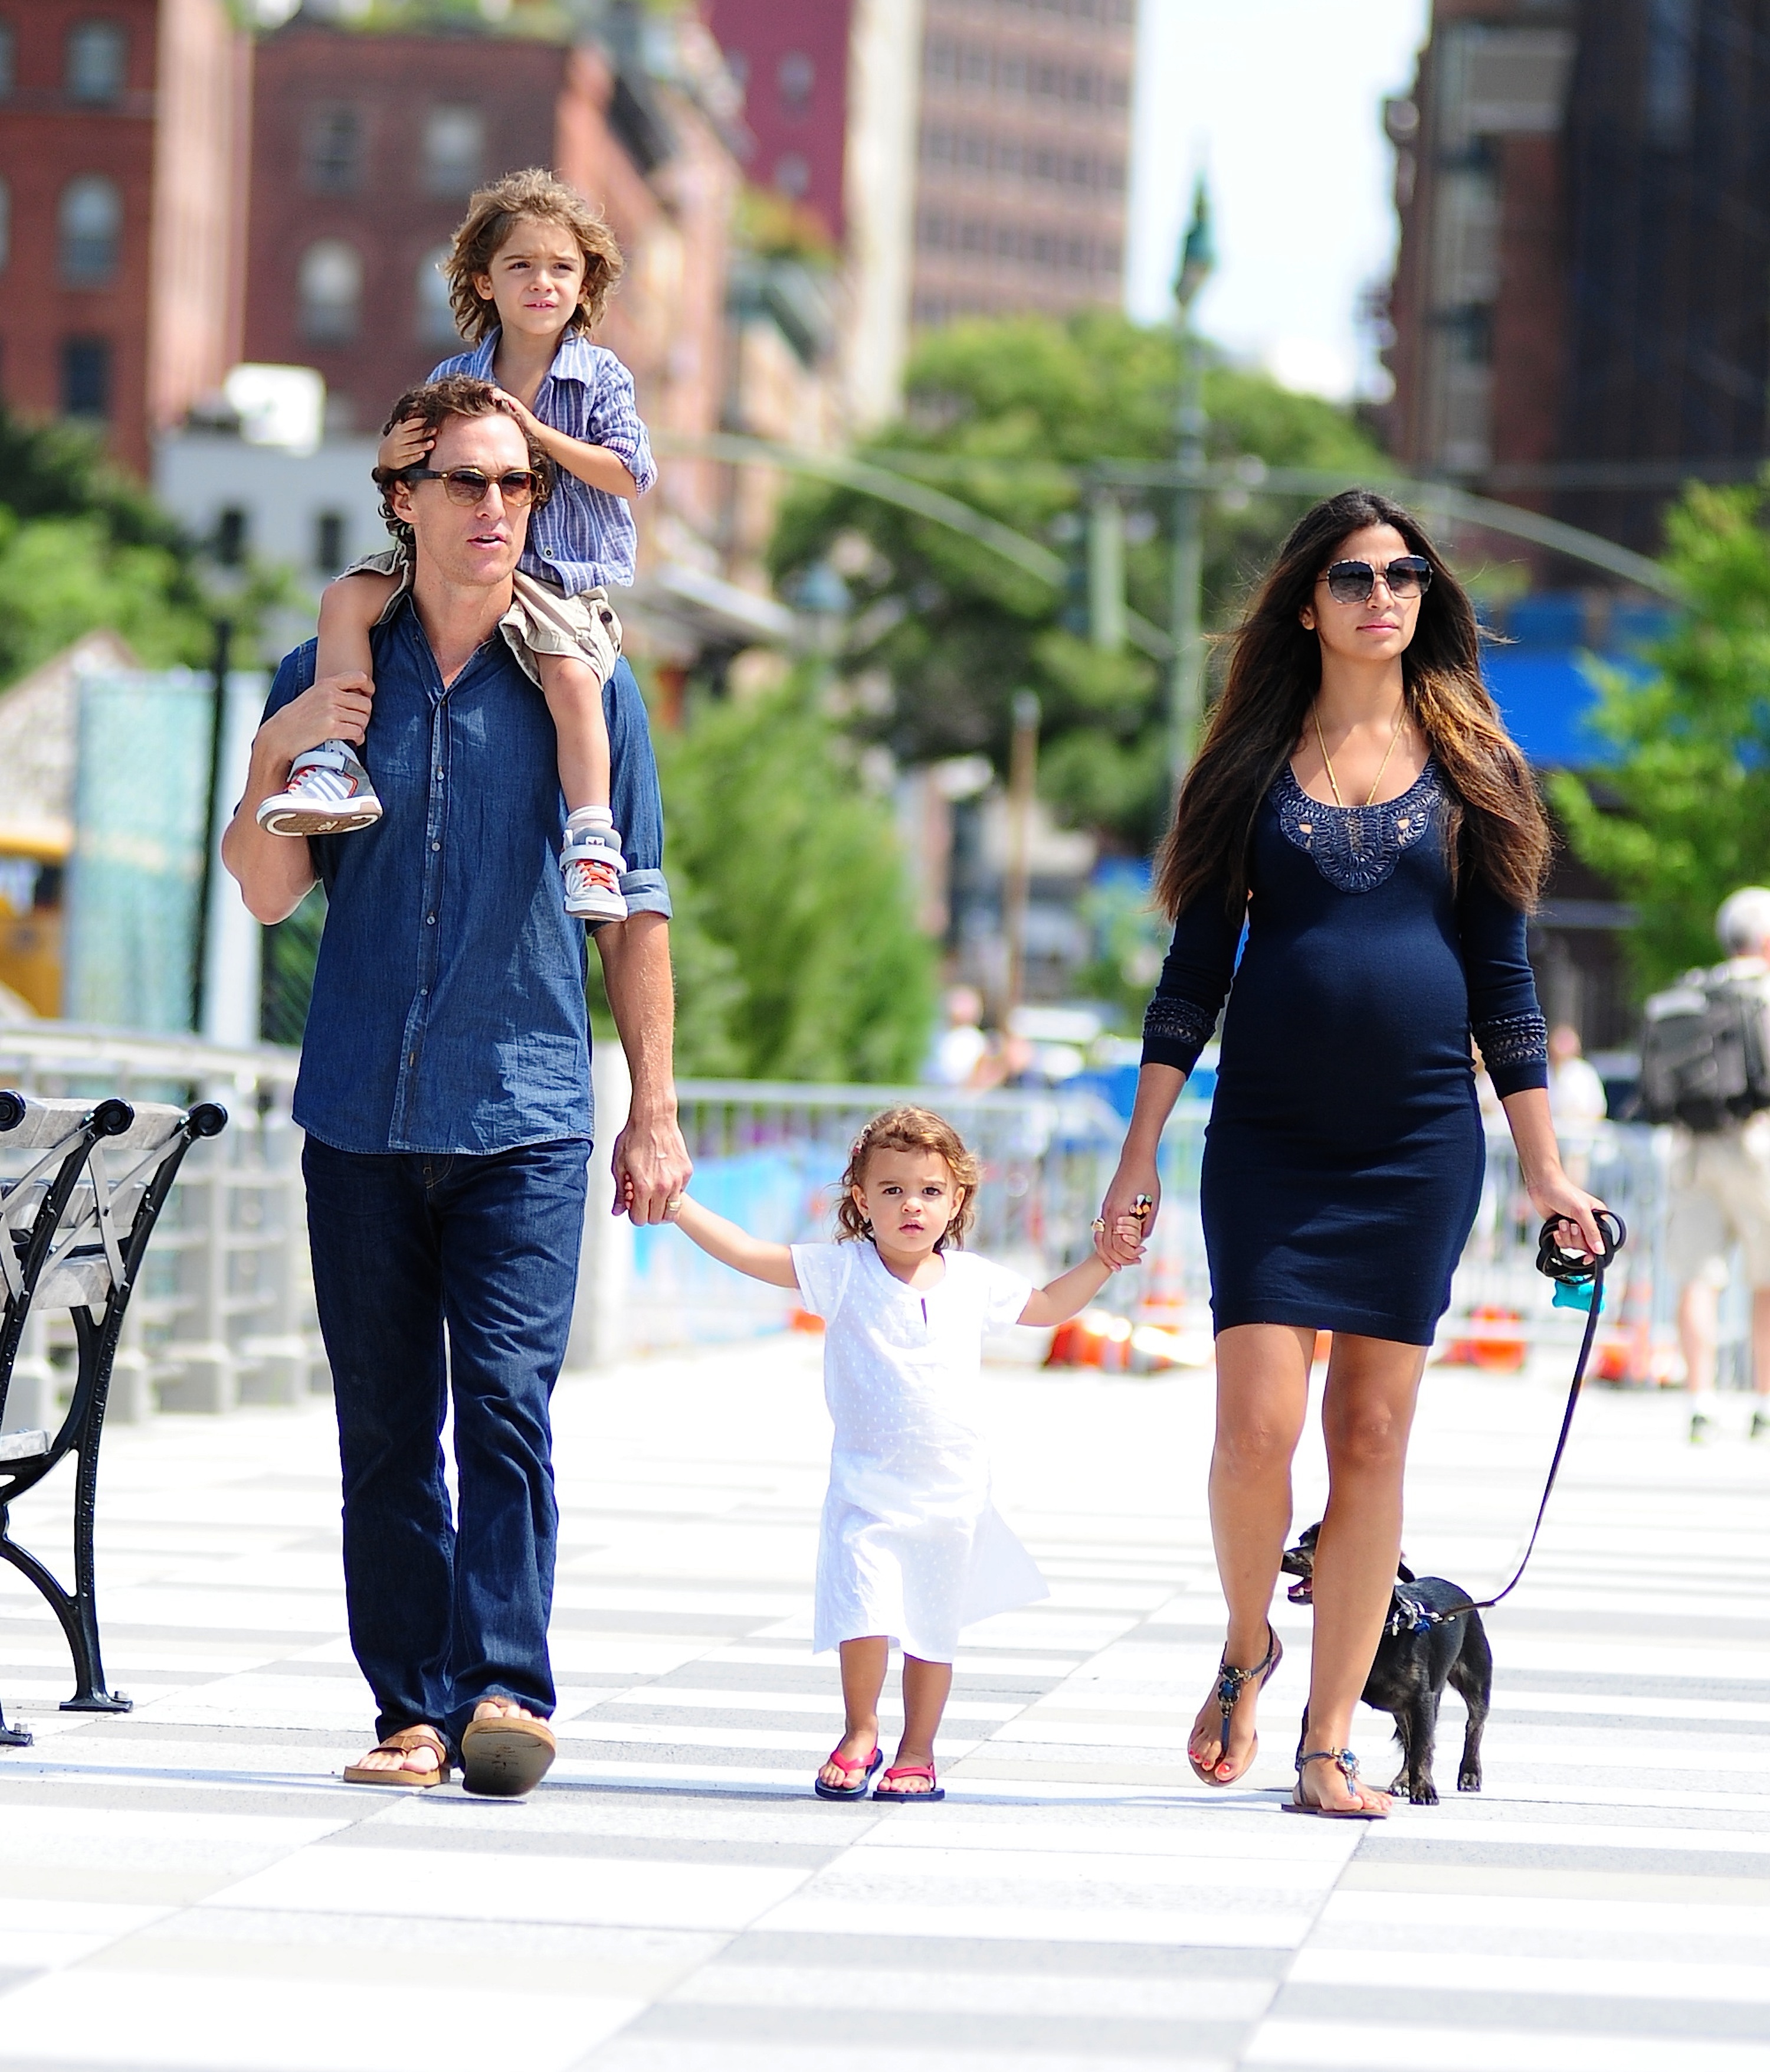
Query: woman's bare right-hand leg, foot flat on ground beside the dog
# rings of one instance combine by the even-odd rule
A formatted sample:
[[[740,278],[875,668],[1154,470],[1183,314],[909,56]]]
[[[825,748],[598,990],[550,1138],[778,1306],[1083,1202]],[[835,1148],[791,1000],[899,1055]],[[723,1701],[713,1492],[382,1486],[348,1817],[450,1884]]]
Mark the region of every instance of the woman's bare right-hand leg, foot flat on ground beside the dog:
[[[1315,1544],[1315,1660],[1308,1678],[1308,1747],[1344,1749],[1370,1674],[1395,1564],[1402,1558],[1402,1477],[1426,1349],[1393,1339],[1333,1334],[1321,1428],[1327,1440],[1327,1515]],[[1315,1805],[1387,1809],[1385,1792],[1354,1792],[1333,1763],[1310,1763],[1302,1790]]]

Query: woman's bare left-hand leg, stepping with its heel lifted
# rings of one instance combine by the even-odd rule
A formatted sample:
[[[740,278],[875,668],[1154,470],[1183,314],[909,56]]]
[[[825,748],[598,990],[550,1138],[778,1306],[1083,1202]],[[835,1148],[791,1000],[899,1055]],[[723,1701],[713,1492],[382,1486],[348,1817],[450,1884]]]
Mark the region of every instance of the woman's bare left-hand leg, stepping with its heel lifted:
[[[1211,1539],[1230,1602],[1223,1660],[1250,1670],[1265,1658],[1273,1585],[1290,1531],[1290,1463],[1308,1413],[1312,1330],[1236,1324],[1217,1334],[1217,1442],[1211,1450]],[[1257,1687],[1248,1685],[1230,1722],[1215,1693],[1199,1709],[1188,1749],[1226,1784],[1255,1745]]]

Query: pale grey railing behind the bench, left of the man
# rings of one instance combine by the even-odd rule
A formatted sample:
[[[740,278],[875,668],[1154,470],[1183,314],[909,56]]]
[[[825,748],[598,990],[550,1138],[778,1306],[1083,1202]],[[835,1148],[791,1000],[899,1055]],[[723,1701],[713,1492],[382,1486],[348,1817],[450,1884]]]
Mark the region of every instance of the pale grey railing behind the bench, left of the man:
[[[161,1216],[116,1355],[112,1419],[294,1403],[327,1386],[290,1121],[296,1063],[271,1046],[66,1021],[0,1026],[0,1086],[43,1098],[219,1100],[232,1117],[222,1138],[193,1148]],[[66,1318],[33,1316],[8,1428],[54,1426],[70,1386]]]

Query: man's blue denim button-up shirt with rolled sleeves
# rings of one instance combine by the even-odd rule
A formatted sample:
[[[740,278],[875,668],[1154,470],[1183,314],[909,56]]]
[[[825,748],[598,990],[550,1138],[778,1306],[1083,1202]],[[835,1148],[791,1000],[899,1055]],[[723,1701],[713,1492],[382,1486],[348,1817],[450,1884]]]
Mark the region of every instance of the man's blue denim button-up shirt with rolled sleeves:
[[[294,1119],[346,1152],[507,1152],[588,1138],[584,924],[565,914],[565,802],[547,702],[499,628],[443,690],[410,601],[371,636],[383,818],[311,843],[327,893]],[[269,717],[313,684],[284,659]],[[646,707],[602,692],[629,914],[669,914]]]

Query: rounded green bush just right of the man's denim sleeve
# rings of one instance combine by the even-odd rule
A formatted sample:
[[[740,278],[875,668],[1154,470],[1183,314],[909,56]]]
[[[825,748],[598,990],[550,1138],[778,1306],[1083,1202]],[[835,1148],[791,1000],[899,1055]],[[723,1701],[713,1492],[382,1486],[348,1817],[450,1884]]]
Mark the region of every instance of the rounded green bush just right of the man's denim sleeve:
[[[677,903],[679,1069],[913,1077],[934,1015],[888,810],[797,675],[658,738]]]

